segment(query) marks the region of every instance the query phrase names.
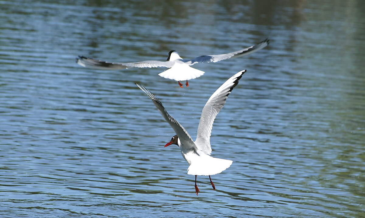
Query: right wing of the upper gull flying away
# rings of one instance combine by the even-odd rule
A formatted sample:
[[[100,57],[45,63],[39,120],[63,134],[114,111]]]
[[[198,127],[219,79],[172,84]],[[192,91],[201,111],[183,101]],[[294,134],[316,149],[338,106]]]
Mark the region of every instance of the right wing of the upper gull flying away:
[[[228,58],[246,56],[246,55],[254,53],[258,50],[263,49],[264,47],[269,45],[269,41],[270,41],[269,39],[265,39],[264,41],[262,41],[260,43],[257,43],[256,45],[253,45],[251,47],[248,47],[248,48],[245,48],[245,49],[242,49],[242,50],[239,50],[239,51],[234,51],[234,52],[231,52],[231,53],[227,53],[227,54],[204,55],[204,56],[196,57],[196,58],[191,59],[191,60],[182,60],[182,61],[185,62],[188,65],[193,65],[193,64],[217,62],[217,61],[222,61],[222,60],[228,59]]]

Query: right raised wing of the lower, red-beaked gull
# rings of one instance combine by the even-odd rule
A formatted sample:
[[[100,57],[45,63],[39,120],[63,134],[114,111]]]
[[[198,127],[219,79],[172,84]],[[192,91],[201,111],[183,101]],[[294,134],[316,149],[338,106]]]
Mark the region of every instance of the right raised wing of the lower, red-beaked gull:
[[[232,89],[238,84],[238,80],[241,79],[243,73],[246,73],[246,70],[234,74],[234,76],[223,83],[223,85],[210,96],[203,111],[201,111],[195,144],[197,148],[205,154],[210,154],[212,152],[210,134],[212,132],[214,119],[226,103],[226,99]]]

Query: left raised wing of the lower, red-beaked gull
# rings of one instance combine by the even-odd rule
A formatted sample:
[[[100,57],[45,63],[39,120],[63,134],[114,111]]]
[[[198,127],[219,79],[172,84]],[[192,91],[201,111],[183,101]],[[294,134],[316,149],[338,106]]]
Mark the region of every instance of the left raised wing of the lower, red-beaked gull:
[[[136,84],[136,83],[135,83]],[[157,97],[155,97],[148,89],[143,87],[140,84],[136,84],[140,89],[142,89],[143,92],[145,92],[150,99],[153,100],[153,103],[157,107],[157,109],[161,112],[162,116],[165,118],[165,120],[170,124],[172,129],[175,131],[177,136],[179,137],[181,143],[183,143],[182,146],[185,148],[194,148],[197,150],[196,145],[193,142],[193,139],[190,137],[189,133],[184,129],[183,126],[180,125],[179,122],[177,122],[170,114],[166,111],[165,107],[162,105],[160,100],[158,100]]]

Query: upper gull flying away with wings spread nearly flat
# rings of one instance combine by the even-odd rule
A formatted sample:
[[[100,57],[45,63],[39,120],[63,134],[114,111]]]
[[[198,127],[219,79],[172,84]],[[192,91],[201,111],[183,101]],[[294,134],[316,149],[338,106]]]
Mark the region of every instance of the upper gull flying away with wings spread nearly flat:
[[[181,84],[180,81],[186,80],[185,85],[186,87],[188,87],[189,86],[188,80],[195,79],[204,74],[204,71],[192,68],[191,65],[217,62],[228,58],[246,56],[260,49],[263,49],[267,45],[269,45],[269,39],[265,39],[264,41],[257,43],[256,45],[247,47],[239,51],[234,51],[227,54],[204,55],[189,60],[181,58],[176,51],[170,51],[166,61],[140,61],[140,62],[121,63],[121,62],[107,62],[107,61],[96,60],[93,58],[88,58],[85,56],[78,56],[78,58],[76,58],[76,63],[86,68],[100,69],[100,70],[166,67],[170,69],[165,70],[164,72],[158,75],[166,79],[176,80],[178,82],[178,85],[181,88],[183,88],[183,84]]]

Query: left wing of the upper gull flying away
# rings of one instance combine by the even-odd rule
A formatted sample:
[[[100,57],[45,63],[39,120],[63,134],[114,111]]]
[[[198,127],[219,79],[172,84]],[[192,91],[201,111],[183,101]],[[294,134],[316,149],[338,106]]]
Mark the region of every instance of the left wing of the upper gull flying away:
[[[85,56],[78,56],[78,58],[76,58],[76,63],[86,68],[99,69],[99,70],[118,70],[118,69],[134,68],[134,67],[151,68],[160,66],[171,68],[173,66],[173,63],[169,61],[140,61],[140,62],[120,63],[120,62],[101,61],[101,60],[96,60],[94,58],[88,58]]]

